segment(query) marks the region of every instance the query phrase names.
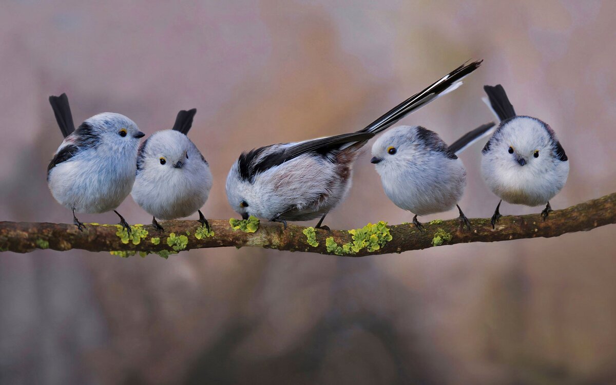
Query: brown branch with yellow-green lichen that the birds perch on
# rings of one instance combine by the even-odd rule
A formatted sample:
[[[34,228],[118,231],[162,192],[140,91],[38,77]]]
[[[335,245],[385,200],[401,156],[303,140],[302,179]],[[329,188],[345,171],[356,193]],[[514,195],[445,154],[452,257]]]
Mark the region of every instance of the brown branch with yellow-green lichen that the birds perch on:
[[[558,237],[592,230],[616,223],[616,193],[553,211],[546,221],[541,221],[538,213],[506,216],[493,230],[489,219],[471,219],[470,232],[457,219],[426,223],[423,232],[411,224],[384,226],[383,222],[351,232],[296,225],[284,230],[282,224],[274,222],[258,223],[253,232],[256,224],[253,219],[243,225],[238,221],[233,223],[232,227],[228,220],[210,219],[213,233],[197,221],[164,222],[162,234],[151,225],[136,225],[129,237],[126,230],[115,225],[86,224],[86,229],[80,232],[73,224],[0,222],[0,250],[28,253],[34,249],[83,249],[113,251],[121,256],[149,252],[167,257],[187,249],[251,246],[361,257],[456,243]]]

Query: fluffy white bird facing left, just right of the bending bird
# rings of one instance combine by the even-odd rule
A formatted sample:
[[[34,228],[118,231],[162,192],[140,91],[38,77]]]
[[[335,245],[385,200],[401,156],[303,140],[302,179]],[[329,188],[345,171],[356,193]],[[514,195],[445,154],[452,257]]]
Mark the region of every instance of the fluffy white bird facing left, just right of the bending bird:
[[[387,197],[401,209],[415,214],[413,224],[424,230],[417,216],[458,208],[460,222],[468,230],[471,223],[458,202],[466,186],[466,169],[458,154],[490,134],[495,123],[487,123],[466,133],[448,146],[439,134],[422,126],[398,126],[387,131],[372,145],[376,172]]]

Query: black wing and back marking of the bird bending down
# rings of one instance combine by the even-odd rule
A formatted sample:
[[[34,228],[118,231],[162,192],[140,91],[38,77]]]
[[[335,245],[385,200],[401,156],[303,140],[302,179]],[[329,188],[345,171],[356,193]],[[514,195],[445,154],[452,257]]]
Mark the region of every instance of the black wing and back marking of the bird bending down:
[[[278,148],[277,151],[261,156],[261,154],[271,146],[256,148],[249,152],[241,153],[238,158],[238,171],[240,179],[252,182],[254,176],[278,166],[286,161],[297,158],[306,153],[320,153],[325,155],[328,152],[338,150],[341,145],[352,142],[363,142],[375,136],[372,132],[351,132],[325,138],[307,140],[291,147]]]

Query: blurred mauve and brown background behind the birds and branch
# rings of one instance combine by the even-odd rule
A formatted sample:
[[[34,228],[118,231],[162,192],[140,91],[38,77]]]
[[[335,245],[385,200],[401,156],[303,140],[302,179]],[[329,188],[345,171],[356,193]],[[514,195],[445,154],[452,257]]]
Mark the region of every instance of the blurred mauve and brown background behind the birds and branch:
[[[237,216],[224,180],[242,150],[363,128],[479,58],[463,87],[401,123],[451,143],[493,119],[482,86],[501,83],[567,151],[552,207],[601,197],[616,191],[615,21],[610,0],[5,0],[0,219],[71,222],[45,181],[62,141],[49,95],[68,94],[77,124],[115,111],[147,134],[198,108],[190,137],[215,182],[203,212],[225,219]],[[461,156],[469,217],[498,202],[482,145]],[[130,197],[118,210],[151,220]],[[365,152],[326,224],[379,220],[411,214],[387,200]],[[615,229],[360,259],[2,253],[0,383],[616,384]]]

